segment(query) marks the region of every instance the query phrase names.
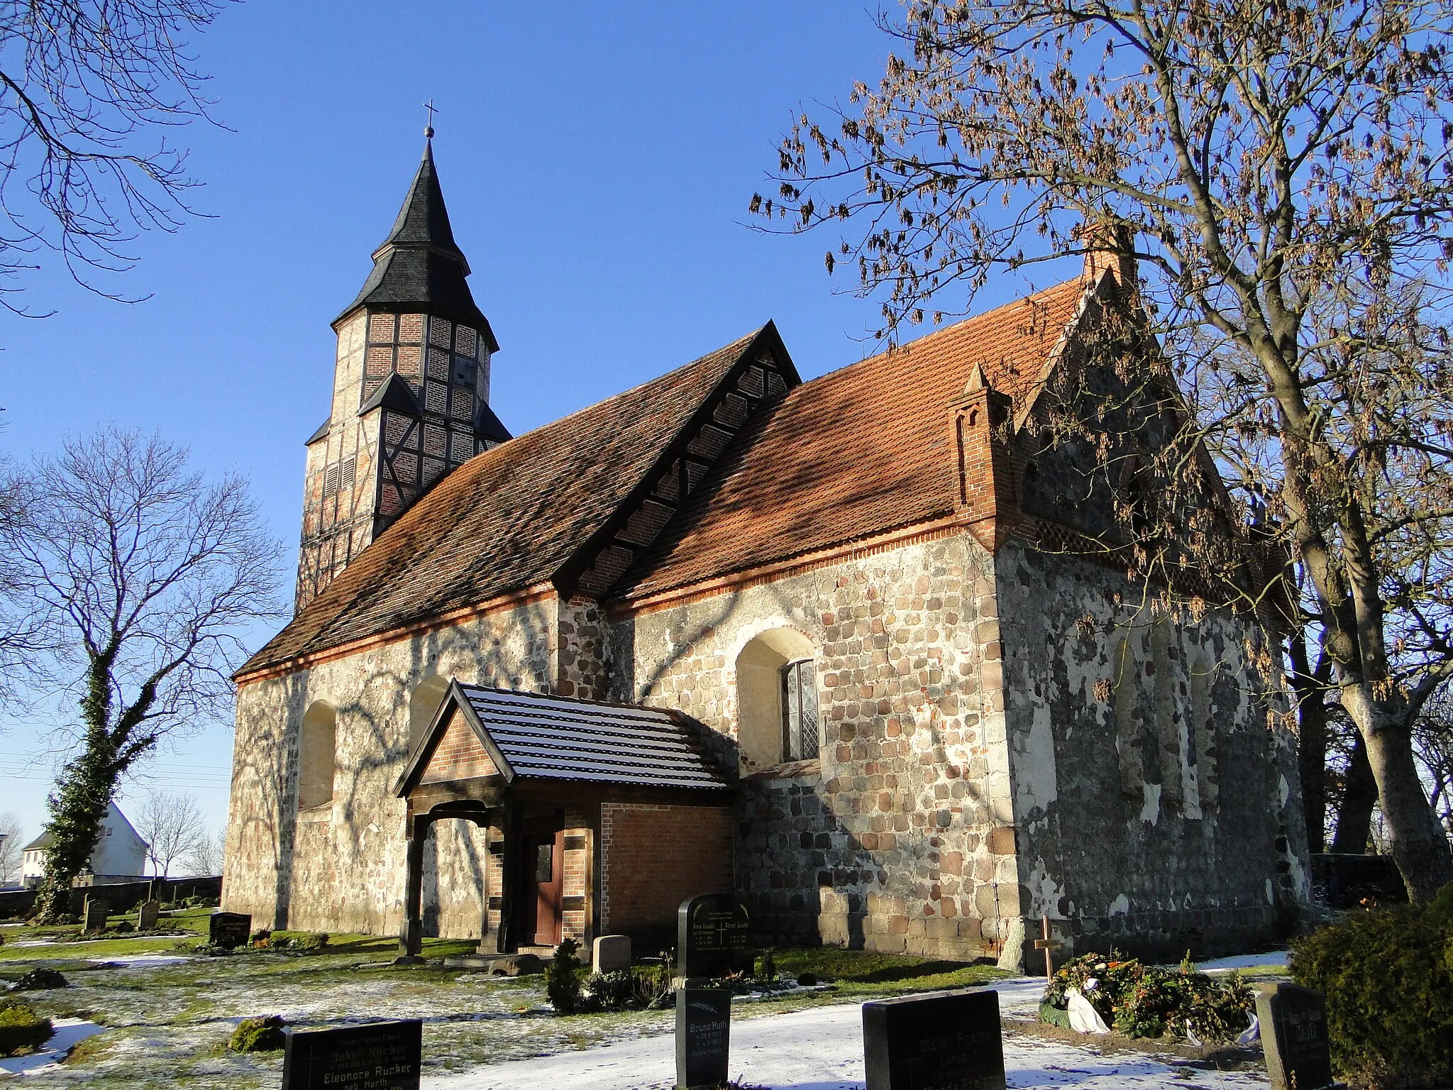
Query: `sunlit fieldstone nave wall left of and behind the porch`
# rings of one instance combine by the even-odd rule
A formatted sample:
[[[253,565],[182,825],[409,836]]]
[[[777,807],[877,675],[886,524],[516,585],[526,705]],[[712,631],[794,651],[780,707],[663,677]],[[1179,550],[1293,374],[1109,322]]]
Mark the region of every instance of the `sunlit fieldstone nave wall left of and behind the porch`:
[[[555,599],[318,663],[237,695],[224,905],[256,926],[389,934],[402,923],[404,802],[394,798],[410,719],[437,706],[437,679],[549,692]],[[433,706],[413,709],[427,699]],[[308,708],[336,712],[330,805],[298,812]],[[471,824],[436,825],[424,853],[426,933],[477,937],[487,844]]]

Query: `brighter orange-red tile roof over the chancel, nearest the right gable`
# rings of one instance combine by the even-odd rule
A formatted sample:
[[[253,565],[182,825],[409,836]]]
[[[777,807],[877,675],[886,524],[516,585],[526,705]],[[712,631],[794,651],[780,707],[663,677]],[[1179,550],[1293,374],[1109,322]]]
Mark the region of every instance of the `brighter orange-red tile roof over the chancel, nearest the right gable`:
[[[1000,307],[792,389],[763,413],[615,589],[644,597],[950,514],[949,404],[975,365],[1033,398],[1082,280]]]

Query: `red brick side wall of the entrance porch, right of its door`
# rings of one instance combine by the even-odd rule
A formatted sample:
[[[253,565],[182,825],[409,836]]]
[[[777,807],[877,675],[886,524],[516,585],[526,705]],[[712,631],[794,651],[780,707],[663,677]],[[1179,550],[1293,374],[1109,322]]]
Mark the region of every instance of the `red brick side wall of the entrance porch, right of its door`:
[[[732,888],[732,811],[600,807],[603,933],[676,924],[681,901]]]

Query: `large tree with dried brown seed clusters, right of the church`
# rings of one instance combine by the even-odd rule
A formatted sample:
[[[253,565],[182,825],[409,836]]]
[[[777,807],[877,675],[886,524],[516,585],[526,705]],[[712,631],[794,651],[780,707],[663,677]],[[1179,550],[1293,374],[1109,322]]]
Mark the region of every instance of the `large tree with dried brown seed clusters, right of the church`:
[[[1109,253],[1189,432],[1245,440],[1247,507],[1309,587],[1267,593],[1311,606],[1312,666],[1430,898],[1453,881],[1412,747],[1453,676],[1446,4],[908,0],[883,26],[902,55],[833,124],[798,121],[753,209],[840,228],[828,267],[856,265],[888,337],[995,272]],[[1189,465],[1187,443],[1141,453]]]

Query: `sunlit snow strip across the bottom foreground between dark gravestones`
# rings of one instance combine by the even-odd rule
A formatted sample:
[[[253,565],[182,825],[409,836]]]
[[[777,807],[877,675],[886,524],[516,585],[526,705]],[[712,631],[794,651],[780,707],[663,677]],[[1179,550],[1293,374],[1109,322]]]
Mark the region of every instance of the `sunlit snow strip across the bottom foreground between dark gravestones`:
[[[1037,1006],[1043,981],[1023,978],[994,988],[1003,1010],[1019,1010],[1033,991]],[[1178,1084],[1186,1090],[1263,1090],[1266,1078],[1251,1073],[1173,1067],[1142,1052],[1103,1054],[1014,1033],[1004,1036],[1004,1067],[1014,1090],[1151,1090]],[[1190,1078],[1186,1078],[1190,1075]],[[732,1022],[731,1077],[772,1090],[857,1090],[863,1086],[862,1006],[834,1004],[790,1014]],[[1175,1080],[1168,1083],[1168,1080]],[[575,1052],[474,1067],[426,1077],[423,1090],[665,1090],[676,1083],[676,1038],[670,1033],[622,1041]]]

